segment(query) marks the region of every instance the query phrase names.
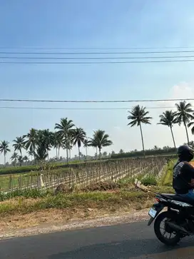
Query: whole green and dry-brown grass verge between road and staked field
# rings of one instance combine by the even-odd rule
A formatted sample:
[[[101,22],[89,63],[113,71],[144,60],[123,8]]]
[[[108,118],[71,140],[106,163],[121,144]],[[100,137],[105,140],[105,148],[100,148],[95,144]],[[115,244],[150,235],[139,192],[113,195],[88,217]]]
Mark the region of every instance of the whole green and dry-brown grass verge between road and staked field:
[[[155,202],[154,192],[173,193],[170,186],[149,186],[151,191],[144,192],[135,188],[131,184],[131,179],[128,180],[113,185],[111,182],[110,185],[105,183],[104,186],[99,182],[96,186],[91,186],[91,190],[100,187],[99,191],[83,188],[55,195],[51,190],[31,189],[10,194],[0,193],[1,233],[41,223],[52,225],[69,220],[122,215],[149,208]],[[147,182],[151,181],[152,178],[147,179]],[[104,189],[106,191],[102,191]]]

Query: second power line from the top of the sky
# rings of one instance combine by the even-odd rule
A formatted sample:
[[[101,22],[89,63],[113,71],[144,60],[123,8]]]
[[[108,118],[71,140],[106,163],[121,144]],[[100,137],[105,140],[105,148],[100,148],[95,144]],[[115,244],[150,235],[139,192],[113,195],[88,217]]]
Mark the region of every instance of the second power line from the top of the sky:
[[[167,54],[167,53],[193,53],[193,51],[117,51],[117,52],[110,52],[110,51],[103,51],[103,52],[29,52],[29,51],[0,51],[0,54],[39,54],[39,55],[98,55],[98,54]]]

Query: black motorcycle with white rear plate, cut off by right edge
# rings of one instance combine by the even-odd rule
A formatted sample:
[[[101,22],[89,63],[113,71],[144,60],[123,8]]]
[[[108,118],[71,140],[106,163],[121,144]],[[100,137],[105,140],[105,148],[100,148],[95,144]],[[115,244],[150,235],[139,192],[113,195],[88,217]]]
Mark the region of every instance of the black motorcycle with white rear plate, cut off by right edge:
[[[194,235],[194,201],[175,194],[155,193],[148,225],[154,221],[154,232],[165,245],[176,245],[185,236]],[[161,212],[164,208],[167,210]],[[161,223],[163,228],[160,228]],[[165,235],[170,237],[167,238]]]

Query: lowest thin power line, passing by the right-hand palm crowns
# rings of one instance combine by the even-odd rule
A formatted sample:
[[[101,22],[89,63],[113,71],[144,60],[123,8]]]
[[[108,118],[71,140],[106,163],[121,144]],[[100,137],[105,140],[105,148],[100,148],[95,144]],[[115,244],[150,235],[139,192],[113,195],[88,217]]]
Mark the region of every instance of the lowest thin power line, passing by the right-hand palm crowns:
[[[126,108],[53,108],[53,107],[17,107],[17,106],[0,106],[6,109],[37,109],[37,110],[131,110],[133,107]],[[175,106],[156,106],[146,107],[147,109],[160,109],[160,108],[176,108]]]

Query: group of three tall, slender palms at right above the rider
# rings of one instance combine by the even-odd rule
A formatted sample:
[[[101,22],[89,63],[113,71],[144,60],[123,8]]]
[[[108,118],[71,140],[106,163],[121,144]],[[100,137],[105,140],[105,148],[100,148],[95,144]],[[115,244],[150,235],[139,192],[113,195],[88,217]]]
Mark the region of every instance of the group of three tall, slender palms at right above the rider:
[[[187,137],[188,144],[190,143],[188,137],[188,128],[191,128],[191,132],[194,134],[194,110],[191,103],[186,101],[180,101],[180,103],[175,103],[177,111],[167,110],[160,115],[160,121],[158,124],[168,126],[173,138],[173,146],[176,150],[175,138],[173,135],[173,126],[178,124],[179,126],[183,124],[185,126],[185,133]],[[150,121],[152,117],[149,116],[149,111],[146,111],[146,107],[134,106],[132,111],[129,111],[128,126],[139,126],[141,131],[141,141],[143,146],[143,156],[145,157],[145,147],[143,141],[143,131],[142,124],[151,124]]]

